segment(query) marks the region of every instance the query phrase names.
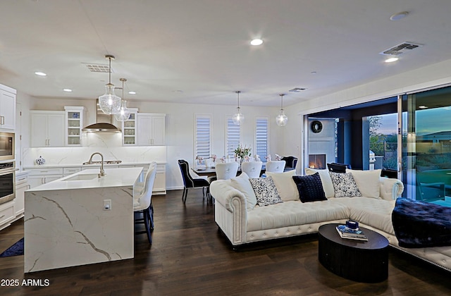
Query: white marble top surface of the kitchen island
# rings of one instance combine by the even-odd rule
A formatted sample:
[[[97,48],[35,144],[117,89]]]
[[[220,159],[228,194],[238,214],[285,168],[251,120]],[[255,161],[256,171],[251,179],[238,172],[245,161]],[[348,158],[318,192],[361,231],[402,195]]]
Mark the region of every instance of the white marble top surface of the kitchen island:
[[[77,190],[85,188],[133,186],[137,180],[139,180],[142,168],[104,168],[105,175],[101,178],[97,177],[99,171],[99,168],[89,168],[61,179],[33,187],[27,191]],[[80,178],[80,180],[74,180],[77,178]]]

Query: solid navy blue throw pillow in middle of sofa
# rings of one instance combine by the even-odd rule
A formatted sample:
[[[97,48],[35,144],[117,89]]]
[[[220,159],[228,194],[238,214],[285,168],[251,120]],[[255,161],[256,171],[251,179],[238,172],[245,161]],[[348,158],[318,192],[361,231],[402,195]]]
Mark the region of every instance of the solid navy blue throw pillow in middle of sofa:
[[[319,173],[313,175],[293,175],[301,202],[327,200]]]

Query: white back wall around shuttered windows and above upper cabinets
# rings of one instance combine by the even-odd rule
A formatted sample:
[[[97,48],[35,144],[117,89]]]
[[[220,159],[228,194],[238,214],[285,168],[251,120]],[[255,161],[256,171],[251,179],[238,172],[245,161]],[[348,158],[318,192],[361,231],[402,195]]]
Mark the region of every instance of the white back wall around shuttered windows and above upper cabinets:
[[[95,122],[95,99],[42,99],[31,98],[31,110],[63,110],[64,106],[85,106],[87,108],[85,125]],[[223,105],[195,105],[195,104],[166,104],[162,102],[144,102],[128,100],[130,108],[138,108],[142,113],[166,113],[166,187],[168,190],[183,187],[183,181],[178,167],[178,159],[186,159],[190,164],[194,160],[194,116],[199,114],[211,114],[212,123],[212,153],[223,156],[226,147],[226,116],[235,113],[235,106]],[[241,106],[245,115],[245,123],[242,125],[242,144],[254,147],[255,118],[267,116],[270,122],[269,152],[281,154],[281,141],[283,128],[276,125],[277,108],[247,107]],[[29,117],[29,114],[26,114]],[[24,125],[25,137],[29,137],[29,123]],[[281,154],[282,155],[282,154]],[[89,157],[89,156],[88,156]]]

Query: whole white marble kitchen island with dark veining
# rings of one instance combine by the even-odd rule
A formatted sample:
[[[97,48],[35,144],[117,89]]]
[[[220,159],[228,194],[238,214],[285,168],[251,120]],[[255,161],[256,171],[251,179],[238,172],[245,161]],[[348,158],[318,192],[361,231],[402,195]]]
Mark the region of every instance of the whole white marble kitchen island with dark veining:
[[[133,258],[142,168],[87,169],[25,192],[25,273]]]

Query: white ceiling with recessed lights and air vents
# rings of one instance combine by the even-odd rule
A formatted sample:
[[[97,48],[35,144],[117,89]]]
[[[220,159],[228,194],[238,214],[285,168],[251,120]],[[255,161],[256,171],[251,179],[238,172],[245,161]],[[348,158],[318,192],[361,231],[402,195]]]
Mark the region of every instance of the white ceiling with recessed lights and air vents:
[[[409,16],[390,20],[400,11]],[[108,74],[84,63],[112,54],[113,84],[137,92],[129,106],[234,105],[236,90],[242,105],[279,106],[283,92],[287,106],[450,59],[450,11],[450,0],[0,1],[0,83],[94,99]],[[378,53],[402,42],[424,46],[383,63]]]

